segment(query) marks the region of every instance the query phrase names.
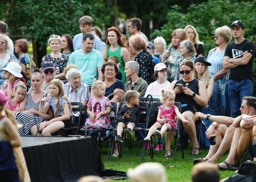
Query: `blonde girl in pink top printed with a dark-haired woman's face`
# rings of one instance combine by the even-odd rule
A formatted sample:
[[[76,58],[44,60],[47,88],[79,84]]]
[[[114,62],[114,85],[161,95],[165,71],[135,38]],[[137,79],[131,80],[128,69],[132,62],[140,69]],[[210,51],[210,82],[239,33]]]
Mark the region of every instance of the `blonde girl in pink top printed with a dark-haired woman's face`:
[[[90,118],[86,119],[86,129],[107,129],[111,126],[109,113],[111,112],[111,102],[105,97],[106,85],[99,80],[92,84],[92,97],[87,104],[87,113]]]

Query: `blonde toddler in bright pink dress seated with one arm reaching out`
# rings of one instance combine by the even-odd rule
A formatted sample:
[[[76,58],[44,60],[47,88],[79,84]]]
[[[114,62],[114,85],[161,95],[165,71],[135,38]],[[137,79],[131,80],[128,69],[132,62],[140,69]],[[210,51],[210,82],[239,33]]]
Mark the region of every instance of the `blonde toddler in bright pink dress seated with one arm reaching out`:
[[[158,115],[157,115],[157,121],[153,126],[150,127],[149,133],[147,134],[147,137],[144,138],[145,142],[150,142],[150,137],[154,132],[156,132],[156,136],[158,139],[163,139],[163,134],[168,129],[176,129],[176,120],[175,116],[180,118],[184,123],[189,125],[189,121],[185,120],[184,116],[180,114],[179,109],[174,105],[175,100],[175,94],[172,90],[162,90],[163,95],[163,105],[159,107]],[[157,129],[160,129],[161,131],[158,131]],[[171,141],[173,138],[171,138]],[[165,153],[167,153],[170,150],[166,150]],[[171,153],[171,151],[170,151]],[[172,155],[168,155],[167,157],[171,157]]]

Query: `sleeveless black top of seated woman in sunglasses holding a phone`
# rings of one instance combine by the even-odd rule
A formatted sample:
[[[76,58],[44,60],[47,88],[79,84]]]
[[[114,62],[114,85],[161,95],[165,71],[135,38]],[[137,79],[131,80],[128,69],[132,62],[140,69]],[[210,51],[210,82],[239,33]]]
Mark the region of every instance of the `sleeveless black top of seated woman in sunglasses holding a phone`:
[[[183,81],[183,79],[181,79],[181,80],[178,80],[178,81],[175,83],[173,89],[175,89],[175,88],[177,87],[177,84],[182,84],[183,87],[187,87],[187,88],[189,88],[192,92],[194,92],[195,94],[199,95],[199,86],[198,86],[199,83],[198,83],[198,82],[199,82],[199,81],[198,81],[197,79],[194,79],[194,80],[192,80],[191,82],[189,82],[189,84],[188,84],[187,86],[185,86],[186,83]],[[193,99],[192,96],[186,95],[186,94],[183,93],[183,92],[180,93],[180,94],[176,94],[175,102],[180,102],[181,104],[193,105],[193,106],[197,109],[198,112],[202,110],[202,106],[199,105],[199,104],[197,104],[197,103],[195,102],[195,100]],[[190,107],[183,107],[183,108],[182,108],[182,111],[186,111],[186,108],[188,109],[188,108],[190,108]]]

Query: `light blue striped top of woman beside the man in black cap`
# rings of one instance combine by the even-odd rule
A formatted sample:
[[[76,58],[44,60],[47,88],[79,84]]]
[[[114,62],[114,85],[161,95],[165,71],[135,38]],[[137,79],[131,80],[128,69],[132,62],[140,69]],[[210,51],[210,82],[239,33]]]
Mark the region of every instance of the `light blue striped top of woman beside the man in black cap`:
[[[208,68],[212,76],[218,73],[220,70],[223,70],[223,58],[225,53],[225,50],[224,50],[216,54],[215,50],[216,48],[211,49],[207,57],[207,61],[211,63],[211,66],[209,66]],[[228,80],[228,77],[229,77],[229,73],[225,75],[223,78]]]

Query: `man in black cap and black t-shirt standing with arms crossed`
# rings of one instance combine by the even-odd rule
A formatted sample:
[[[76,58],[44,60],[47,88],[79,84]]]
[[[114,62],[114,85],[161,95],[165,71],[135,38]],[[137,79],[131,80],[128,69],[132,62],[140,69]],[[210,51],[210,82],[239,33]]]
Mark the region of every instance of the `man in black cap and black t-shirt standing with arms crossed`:
[[[239,107],[242,98],[253,96],[253,58],[255,47],[252,41],[244,38],[243,22],[235,20],[232,25],[232,35],[235,41],[228,44],[223,60],[223,68],[230,69],[228,80],[228,97],[231,117],[240,115]]]

